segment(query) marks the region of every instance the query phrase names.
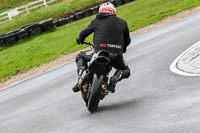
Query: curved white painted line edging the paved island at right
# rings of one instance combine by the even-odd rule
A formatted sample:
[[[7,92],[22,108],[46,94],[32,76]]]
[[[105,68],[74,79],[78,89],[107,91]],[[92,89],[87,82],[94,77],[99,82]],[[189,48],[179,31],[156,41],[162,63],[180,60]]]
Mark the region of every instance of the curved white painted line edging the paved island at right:
[[[189,52],[191,49],[193,49],[194,47],[196,47],[198,44],[200,44],[200,41],[195,43],[194,45],[192,45],[191,47],[189,47],[187,50],[185,50],[182,54],[180,54],[170,65],[170,70],[173,73],[179,74],[179,75],[183,75],[183,76],[200,76],[199,74],[195,74],[195,73],[189,73],[189,72],[185,72],[182,71],[180,69],[177,68],[177,63],[178,61],[187,53]]]

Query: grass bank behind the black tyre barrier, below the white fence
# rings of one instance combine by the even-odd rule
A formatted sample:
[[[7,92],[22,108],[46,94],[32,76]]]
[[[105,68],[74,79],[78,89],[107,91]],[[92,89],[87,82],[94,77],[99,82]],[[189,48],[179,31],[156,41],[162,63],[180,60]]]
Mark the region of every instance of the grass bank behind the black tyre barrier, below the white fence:
[[[100,1],[103,0],[64,0],[63,2],[45,8],[39,8],[30,14],[21,14],[12,21],[0,24],[0,34],[16,30],[23,25],[39,22],[44,19],[53,18],[56,20],[63,15],[72,13],[76,10],[85,9],[89,5],[94,5]]]

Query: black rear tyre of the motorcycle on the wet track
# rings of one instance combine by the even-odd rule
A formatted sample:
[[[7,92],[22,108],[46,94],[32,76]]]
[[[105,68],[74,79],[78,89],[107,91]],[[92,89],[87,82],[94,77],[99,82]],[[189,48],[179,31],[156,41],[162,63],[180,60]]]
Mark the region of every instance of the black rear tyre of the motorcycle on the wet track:
[[[94,74],[92,87],[91,87],[91,93],[88,100],[88,111],[90,111],[91,113],[93,113],[98,108],[99,101],[100,101],[102,81],[103,81],[102,75],[97,76],[96,74]]]

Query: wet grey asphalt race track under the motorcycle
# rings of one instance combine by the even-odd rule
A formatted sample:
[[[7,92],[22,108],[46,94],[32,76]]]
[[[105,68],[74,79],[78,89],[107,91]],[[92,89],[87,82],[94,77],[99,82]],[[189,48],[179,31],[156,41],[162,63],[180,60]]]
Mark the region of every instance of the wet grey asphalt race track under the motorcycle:
[[[200,13],[136,36],[125,59],[132,75],[90,114],[74,62],[0,91],[0,133],[198,133],[200,78],[169,69],[200,40]]]

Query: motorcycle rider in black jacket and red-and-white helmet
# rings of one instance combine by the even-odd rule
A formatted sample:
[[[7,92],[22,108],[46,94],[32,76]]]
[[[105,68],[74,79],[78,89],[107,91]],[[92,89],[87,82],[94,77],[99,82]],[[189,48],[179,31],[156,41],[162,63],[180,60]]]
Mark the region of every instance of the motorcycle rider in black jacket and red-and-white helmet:
[[[115,92],[116,83],[130,76],[130,69],[123,58],[123,53],[131,42],[127,23],[116,16],[116,9],[112,3],[103,3],[96,18],[80,32],[77,43],[83,44],[85,38],[93,32],[94,51],[82,51],[76,56],[78,81],[83,80],[81,75],[87,69],[87,62],[91,60],[94,52],[106,50],[110,53],[111,66],[116,69],[110,78],[108,90]],[[79,86],[77,83],[72,90],[78,92]]]

